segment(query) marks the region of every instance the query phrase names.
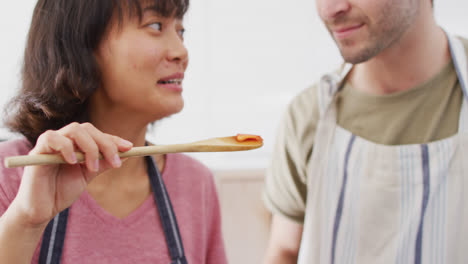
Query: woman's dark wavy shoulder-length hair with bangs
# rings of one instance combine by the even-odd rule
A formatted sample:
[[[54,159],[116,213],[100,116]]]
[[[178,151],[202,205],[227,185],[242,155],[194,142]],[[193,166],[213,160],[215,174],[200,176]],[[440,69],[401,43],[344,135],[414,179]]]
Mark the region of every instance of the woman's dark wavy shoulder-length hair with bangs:
[[[5,124],[35,144],[40,134],[87,119],[101,84],[94,52],[115,19],[140,20],[143,7],[182,18],[189,0],[39,0],[24,53],[22,84],[6,107]]]

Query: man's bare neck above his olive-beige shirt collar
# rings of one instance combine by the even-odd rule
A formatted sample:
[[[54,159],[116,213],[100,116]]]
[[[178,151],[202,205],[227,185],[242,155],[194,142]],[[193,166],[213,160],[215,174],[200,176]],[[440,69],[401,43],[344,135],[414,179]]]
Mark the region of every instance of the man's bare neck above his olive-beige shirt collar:
[[[370,94],[390,94],[430,80],[450,61],[448,41],[433,16],[420,17],[376,57],[354,67],[349,82]]]

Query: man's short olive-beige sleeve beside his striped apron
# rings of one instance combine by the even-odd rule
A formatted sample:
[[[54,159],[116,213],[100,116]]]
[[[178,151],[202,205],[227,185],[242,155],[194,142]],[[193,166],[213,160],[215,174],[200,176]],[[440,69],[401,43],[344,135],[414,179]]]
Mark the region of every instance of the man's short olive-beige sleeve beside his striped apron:
[[[307,164],[319,118],[316,94],[312,86],[289,105],[277,132],[263,190],[263,200],[272,213],[300,223],[306,207]]]

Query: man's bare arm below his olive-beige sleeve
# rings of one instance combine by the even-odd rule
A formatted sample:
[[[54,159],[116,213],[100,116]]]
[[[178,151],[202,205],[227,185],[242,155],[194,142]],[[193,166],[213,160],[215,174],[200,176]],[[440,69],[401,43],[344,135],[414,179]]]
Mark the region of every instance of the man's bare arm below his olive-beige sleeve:
[[[294,222],[282,215],[274,214],[271,223],[270,241],[263,263],[297,263],[301,238],[302,224]]]

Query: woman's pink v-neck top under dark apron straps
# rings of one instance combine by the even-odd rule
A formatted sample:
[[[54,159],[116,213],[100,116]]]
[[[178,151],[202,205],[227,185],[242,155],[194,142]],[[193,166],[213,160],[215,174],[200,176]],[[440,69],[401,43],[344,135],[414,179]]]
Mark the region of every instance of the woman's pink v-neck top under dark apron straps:
[[[15,198],[23,173],[22,168],[6,169],[3,159],[25,155],[30,149],[25,139],[0,143],[0,215]],[[162,177],[174,207],[188,263],[227,263],[211,172],[186,155],[168,154]],[[40,243],[31,263],[38,262],[39,249]],[[70,208],[62,263],[169,264],[170,256],[153,196],[128,217],[119,219],[84,192]]]

